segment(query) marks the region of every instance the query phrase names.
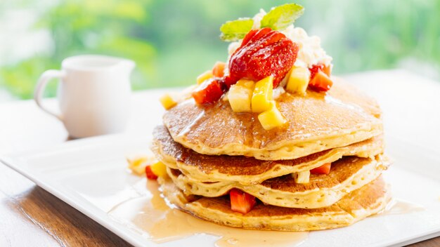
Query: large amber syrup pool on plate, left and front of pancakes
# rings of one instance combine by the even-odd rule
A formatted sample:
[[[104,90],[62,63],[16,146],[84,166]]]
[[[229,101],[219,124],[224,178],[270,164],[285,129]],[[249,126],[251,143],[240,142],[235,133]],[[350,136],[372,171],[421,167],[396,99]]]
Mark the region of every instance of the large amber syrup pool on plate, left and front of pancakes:
[[[297,246],[309,235],[308,232],[255,231],[219,226],[169,206],[162,198],[157,182],[147,180],[146,184],[150,192],[148,196],[119,203],[108,214],[156,243],[209,234],[219,237],[215,245],[221,247]]]

